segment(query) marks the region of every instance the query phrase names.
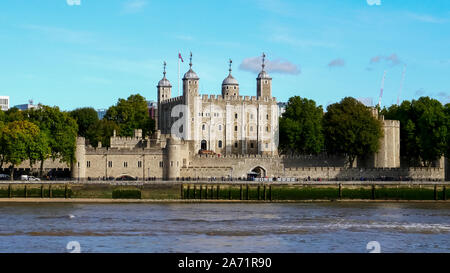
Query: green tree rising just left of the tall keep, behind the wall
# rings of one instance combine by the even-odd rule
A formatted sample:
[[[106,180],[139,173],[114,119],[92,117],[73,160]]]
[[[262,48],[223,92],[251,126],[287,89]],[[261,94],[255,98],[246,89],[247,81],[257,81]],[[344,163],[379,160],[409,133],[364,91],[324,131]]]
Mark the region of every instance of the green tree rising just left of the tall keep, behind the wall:
[[[126,100],[119,99],[111,106],[104,119],[117,123],[121,136],[133,136],[135,129],[142,129],[144,136],[149,136],[154,130],[155,122],[150,118],[147,101],[139,94],[131,95]]]

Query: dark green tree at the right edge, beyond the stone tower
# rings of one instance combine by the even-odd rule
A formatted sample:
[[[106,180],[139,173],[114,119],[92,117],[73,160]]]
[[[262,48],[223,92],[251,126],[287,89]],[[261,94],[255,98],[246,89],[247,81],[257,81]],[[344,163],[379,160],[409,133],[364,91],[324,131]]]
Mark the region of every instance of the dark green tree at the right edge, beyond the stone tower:
[[[448,150],[446,111],[438,100],[429,97],[383,109],[386,118],[400,120],[400,154],[411,166],[431,166]]]

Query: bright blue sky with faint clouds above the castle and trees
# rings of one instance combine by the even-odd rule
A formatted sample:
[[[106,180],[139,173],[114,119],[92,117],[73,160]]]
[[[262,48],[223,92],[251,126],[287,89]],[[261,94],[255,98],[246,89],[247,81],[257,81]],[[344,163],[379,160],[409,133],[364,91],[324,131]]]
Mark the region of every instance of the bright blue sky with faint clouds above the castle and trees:
[[[256,96],[264,52],[277,101],[375,105],[386,72],[382,106],[420,96],[449,103],[449,49],[448,0],[0,2],[0,95],[11,106],[156,100],[164,61],[177,96],[179,52],[181,77],[192,52],[200,94],[220,94],[232,59],[240,95]]]

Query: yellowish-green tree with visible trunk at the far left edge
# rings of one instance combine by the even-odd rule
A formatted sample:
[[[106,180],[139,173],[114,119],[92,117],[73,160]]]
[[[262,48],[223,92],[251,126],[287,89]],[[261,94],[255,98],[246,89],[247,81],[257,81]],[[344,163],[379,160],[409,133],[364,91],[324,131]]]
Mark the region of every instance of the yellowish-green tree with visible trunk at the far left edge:
[[[2,128],[0,146],[5,163],[11,164],[11,180],[14,179],[15,166],[29,159],[29,151],[38,135],[39,127],[26,120],[13,121]]]

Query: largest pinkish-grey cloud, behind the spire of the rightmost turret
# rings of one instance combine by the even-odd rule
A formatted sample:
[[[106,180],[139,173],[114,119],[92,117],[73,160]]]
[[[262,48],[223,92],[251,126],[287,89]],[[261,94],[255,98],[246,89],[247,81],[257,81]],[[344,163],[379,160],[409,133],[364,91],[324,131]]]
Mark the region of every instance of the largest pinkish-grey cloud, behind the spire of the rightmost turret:
[[[265,64],[266,64],[265,69],[268,72],[291,74],[291,75],[300,74],[300,68],[289,61],[283,61],[280,59],[273,61],[266,60]],[[239,69],[258,73],[259,71],[261,71],[261,65],[262,65],[261,57],[251,57],[244,59],[242,63],[239,65]]]

